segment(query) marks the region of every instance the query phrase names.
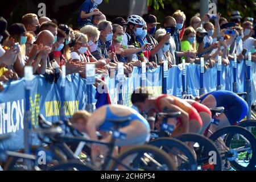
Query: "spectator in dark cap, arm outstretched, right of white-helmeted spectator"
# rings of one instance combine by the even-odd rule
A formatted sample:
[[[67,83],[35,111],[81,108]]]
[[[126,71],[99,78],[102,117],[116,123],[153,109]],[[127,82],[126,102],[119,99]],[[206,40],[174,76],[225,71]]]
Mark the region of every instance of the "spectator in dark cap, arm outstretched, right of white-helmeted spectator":
[[[159,63],[158,51],[163,47],[165,43],[168,43],[169,39],[171,38],[171,34],[167,33],[164,36],[164,38],[161,39],[161,42],[158,43],[158,41],[156,41],[153,36],[156,31],[156,25],[160,23],[157,22],[156,17],[154,15],[145,15],[143,19],[147,23],[147,35],[146,35],[147,42],[154,45],[154,49],[150,51],[150,60],[158,64]]]

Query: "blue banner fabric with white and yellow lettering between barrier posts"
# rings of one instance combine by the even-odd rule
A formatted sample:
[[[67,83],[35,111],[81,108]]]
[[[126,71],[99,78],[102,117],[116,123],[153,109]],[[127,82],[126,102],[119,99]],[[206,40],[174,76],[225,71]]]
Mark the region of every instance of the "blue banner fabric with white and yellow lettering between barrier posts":
[[[222,89],[232,90],[234,61],[230,61],[227,67],[222,66],[221,84]],[[154,95],[162,93],[162,75],[161,67],[149,69],[146,73],[146,86],[148,91]],[[238,92],[245,92],[247,68],[245,62],[237,64],[237,85]],[[117,104],[118,88],[122,88],[124,105],[133,107],[131,104],[131,93],[135,88],[141,85],[141,68],[134,67],[134,71],[129,77],[125,78],[120,87],[116,75],[106,77],[105,82],[108,86],[110,100],[112,104]],[[181,97],[182,93],[182,64],[175,65],[168,70],[167,94]],[[186,79],[188,94],[199,95],[200,89],[200,64],[186,64]],[[256,101],[256,63],[251,64],[251,95],[252,103]],[[60,119],[60,84],[49,84],[43,76],[35,76],[32,80],[32,89],[30,97],[30,107],[32,112],[32,125],[37,126],[37,117],[43,114],[48,121],[54,122]],[[208,69],[204,73],[205,92],[216,90],[217,85],[217,66]],[[5,85],[5,90],[0,93],[0,136],[11,134],[9,140],[0,142],[0,150],[19,150],[23,148],[23,117],[25,104],[24,80],[9,82]],[[92,90],[92,102],[96,103],[94,98],[96,88]],[[88,103],[86,95],[86,80],[79,75],[68,75],[65,84],[65,117],[70,118],[78,110],[85,110]],[[32,144],[38,143],[33,138]]]

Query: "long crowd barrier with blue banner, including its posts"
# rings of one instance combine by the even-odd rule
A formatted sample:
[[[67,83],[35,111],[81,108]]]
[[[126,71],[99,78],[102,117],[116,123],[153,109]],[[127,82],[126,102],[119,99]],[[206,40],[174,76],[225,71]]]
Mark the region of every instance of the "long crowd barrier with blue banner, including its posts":
[[[218,81],[216,80],[217,65],[205,72],[204,59],[201,60],[200,65],[183,63],[174,65],[171,69],[168,69],[168,64],[147,71],[143,64],[142,68],[134,67],[129,77],[123,77],[122,86],[120,86],[122,93],[117,92],[119,81],[116,76],[118,74],[113,78],[106,77],[105,81],[112,104],[122,101],[123,105],[130,107],[132,106],[130,95],[139,86],[146,86],[154,94],[167,93],[181,97],[184,92],[198,96],[199,93],[216,90],[216,85],[221,84],[224,90],[246,91],[249,93],[247,102],[249,104],[251,101],[254,102],[256,100],[256,64],[251,61],[246,61],[247,65],[245,61],[241,63],[231,61],[230,63],[226,67],[222,65]],[[0,150],[23,148],[24,127],[29,128],[28,123],[36,126],[39,114],[43,114],[48,121],[57,121],[60,117],[71,117],[77,110],[92,111],[93,104],[96,103],[94,98],[96,89],[92,83],[95,82],[97,76],[90,75],[90,73],[95,72],[94,69],[90,68],[86,71],[86,75],[89,75],[87,80],[77,74],[63,77],[57,84],[49,84],[43,76],[34,76],[29,82],[29,90],[24,89],[27,84],[26,79],[5,85],[5,90],[0,93],[0,135],[11,133],[13,137],[1,142]],[[233,88],[234,82],[237,83],[237,88]],[[24,121],[27,118],[25,111],[30,111],[31,122],[23,122],[23,118]],[[37,142],[38,139],[33,138],[31,144]]]

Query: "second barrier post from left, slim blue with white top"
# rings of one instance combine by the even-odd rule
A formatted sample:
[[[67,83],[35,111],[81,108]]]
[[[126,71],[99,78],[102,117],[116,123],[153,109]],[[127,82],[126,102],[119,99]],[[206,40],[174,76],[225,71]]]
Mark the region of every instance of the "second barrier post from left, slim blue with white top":
[[[65,119],[65,84],[66,84],[66,66],[63,65],[61,67],[62,75],[61,75],[61,83],[60,83],[60,119],[64,121]]]

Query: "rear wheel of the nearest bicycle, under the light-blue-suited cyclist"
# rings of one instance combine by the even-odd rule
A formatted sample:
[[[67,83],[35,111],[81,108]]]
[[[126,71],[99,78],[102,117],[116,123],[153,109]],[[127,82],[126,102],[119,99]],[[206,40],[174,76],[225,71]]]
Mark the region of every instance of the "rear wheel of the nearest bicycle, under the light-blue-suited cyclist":
[[[174,162],[163,150],[150,145],[131,147],[110,164],[110,171],[176,171]]]

